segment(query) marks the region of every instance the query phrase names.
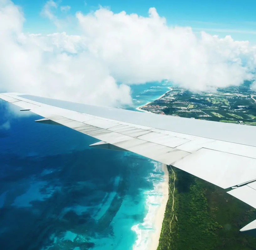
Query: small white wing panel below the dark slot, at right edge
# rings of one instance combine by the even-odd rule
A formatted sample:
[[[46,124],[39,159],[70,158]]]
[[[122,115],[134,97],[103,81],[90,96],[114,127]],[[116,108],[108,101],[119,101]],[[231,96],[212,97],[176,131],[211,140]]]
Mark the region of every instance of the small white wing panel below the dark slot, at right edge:
[[[248,187],[247,185],[232,189],[231,191],[227,192],[232,196],[236,197],[237,199],[249,204],[253,208],[256,208],[256,190]]]

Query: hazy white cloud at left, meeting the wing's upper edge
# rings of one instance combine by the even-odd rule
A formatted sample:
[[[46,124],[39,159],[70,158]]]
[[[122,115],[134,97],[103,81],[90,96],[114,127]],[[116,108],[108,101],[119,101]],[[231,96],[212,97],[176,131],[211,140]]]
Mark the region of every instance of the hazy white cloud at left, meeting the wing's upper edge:
[[[86,50],[86,38],[24,34],[23,15],[12,2],[1,6],[3,19],[1,89],[99,105],[131,104],[130,88],[118,85],[107,66]]]

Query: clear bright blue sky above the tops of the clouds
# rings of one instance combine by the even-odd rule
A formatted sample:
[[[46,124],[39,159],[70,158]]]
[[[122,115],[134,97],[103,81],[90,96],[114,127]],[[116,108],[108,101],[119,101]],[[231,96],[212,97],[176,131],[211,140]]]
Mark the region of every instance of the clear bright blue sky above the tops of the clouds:
[[[24,29],[28,32],[55,32],[56,29],[40,16],[46,1],[44,0],[14,0],[23,8],[26,22]],[[61,5],[71,6],[70,13],[77,11],[87,13],[96,10],[99,5],[110,7],[117,13],[126,11],[128,14],[137,13],[147,16],[150,7],[155,7],[160,16],[164,16],[169,25],[191,26],[195,32],[205,30],[220,37],[231,35],[235,40],[256,42],[256,1],[237,0],[181,0],[181,1],[152,1],[152,0],[62,0]]]

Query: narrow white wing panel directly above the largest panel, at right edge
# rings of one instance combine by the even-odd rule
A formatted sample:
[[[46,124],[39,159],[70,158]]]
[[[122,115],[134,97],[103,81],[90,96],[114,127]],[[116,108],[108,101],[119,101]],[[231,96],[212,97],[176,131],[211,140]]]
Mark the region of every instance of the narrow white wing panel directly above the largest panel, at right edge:
[[[256,158],[256,147],[238,143],[216,140],[204,145],[204,148]]]

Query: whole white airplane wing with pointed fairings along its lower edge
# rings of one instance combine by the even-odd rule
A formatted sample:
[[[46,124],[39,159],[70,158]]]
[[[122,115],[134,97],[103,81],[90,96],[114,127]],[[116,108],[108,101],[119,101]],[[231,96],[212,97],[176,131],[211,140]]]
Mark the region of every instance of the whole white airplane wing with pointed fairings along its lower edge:
[[[256,127],[3,93],[21,110],[100,140],[96,148],[127,150],[175,166],[256,208]],[[240,231],[256,230],[256,220]]]

